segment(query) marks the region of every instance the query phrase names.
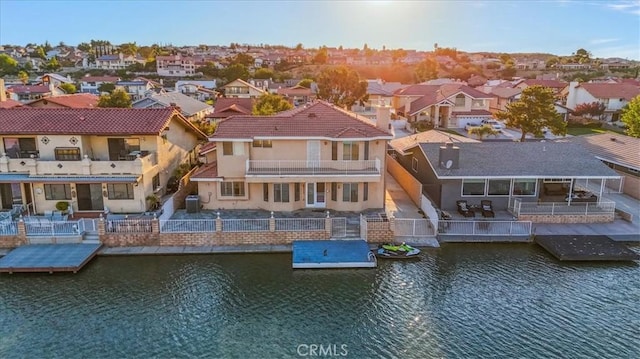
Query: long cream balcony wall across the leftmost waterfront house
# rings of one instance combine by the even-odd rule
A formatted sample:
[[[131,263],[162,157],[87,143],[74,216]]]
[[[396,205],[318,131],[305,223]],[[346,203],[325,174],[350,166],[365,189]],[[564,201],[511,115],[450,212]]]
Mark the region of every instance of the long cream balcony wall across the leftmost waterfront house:
[[[144,157],[127,156],[126,160],[80,161],[43,160],[39,158],[0,157],[0,172],[29,172],[30,175],[142,175],[158,164],[155,152]]]

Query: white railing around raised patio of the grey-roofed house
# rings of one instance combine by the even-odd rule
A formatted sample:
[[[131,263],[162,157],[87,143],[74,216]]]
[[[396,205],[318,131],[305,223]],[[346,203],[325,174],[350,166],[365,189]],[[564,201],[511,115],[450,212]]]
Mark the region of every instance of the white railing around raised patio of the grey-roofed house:
[[[613,214],[616,209],[616,203],[613,201],[576,203],[571,202],[521,202],[516,200],[513,205],[514,214],[519,216],[523,214],[538,215],[595,215],[595,214]]]

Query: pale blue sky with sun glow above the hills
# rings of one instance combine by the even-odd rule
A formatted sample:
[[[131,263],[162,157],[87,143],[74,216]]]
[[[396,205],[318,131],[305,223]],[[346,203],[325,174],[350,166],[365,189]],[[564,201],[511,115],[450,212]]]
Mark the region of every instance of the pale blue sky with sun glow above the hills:
[[[543,52],[640,60],[640,0],[0,0],[0,44],[228,45]]]

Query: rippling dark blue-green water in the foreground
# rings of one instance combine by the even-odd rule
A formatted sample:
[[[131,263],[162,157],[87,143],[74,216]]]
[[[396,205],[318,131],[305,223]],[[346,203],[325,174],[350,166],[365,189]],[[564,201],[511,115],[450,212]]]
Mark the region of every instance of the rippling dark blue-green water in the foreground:
[[[446,245],[377,269],[290,254],[99,257],[0,275],[1,358],[639,358],[640,266]],[[316,354],[320,354],[316,351]]]

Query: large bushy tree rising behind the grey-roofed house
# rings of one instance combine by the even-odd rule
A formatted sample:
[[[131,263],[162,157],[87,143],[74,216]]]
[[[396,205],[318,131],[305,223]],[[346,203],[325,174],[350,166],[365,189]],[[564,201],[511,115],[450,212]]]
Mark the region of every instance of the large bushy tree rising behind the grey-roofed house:
[[[522,90],[520,100],[508,104],[507,110],[499,111],[496,117],[504,120],[507,127],[522,131],[520,142],[524,142],[527,133],[542,136],[545,127],[556,135],[567,134],[567,123],[554,106],[553,90],[542,86]]]

